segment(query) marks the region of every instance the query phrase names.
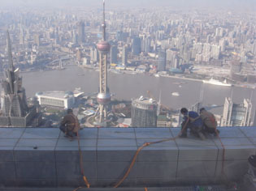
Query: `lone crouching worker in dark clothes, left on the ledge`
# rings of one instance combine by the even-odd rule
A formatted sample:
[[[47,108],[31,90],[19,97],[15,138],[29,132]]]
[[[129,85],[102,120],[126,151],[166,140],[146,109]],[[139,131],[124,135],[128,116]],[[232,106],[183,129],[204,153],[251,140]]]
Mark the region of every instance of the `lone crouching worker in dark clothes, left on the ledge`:
[[[60,123],[60,127],[64,134],[66,134],[65,137],[73,137],[74,135],[77,136],[77,133],[80,129],[80,124],[77,119],[77,117],[73,114],[73,111],[71,108],[67,109],[67,115],[63,117],[63,121]]]

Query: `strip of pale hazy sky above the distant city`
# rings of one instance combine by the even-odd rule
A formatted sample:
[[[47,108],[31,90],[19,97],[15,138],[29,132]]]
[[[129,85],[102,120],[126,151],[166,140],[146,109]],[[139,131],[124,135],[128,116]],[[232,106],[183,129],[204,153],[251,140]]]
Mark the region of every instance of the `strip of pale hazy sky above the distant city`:
[[[102,0],[0,0],[1,6],[100,6]],[[256,0],[106,0],[106,6],[218,6],[250,7]]]

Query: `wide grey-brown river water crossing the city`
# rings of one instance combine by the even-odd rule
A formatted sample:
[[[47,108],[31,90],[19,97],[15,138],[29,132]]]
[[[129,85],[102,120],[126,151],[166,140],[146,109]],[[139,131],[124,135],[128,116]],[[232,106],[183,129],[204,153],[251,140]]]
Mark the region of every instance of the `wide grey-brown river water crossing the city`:
[[[81,87],[85,93],[98,91],[98,71],[68,66],[66,70],[34,71],[21,74],[23,86],[26,89],[27,97],[32,97],[37,91],[73,91]],[[182,84],[179,84],[182,83]],[[131,100],[139,96],[147,96],[151,91],[156,100],[162,91],[161,103],[169,108],[178,109],[190,107],[200,98],[202,82],[186,79],[172,79],[148,74],[115,74],[109,73],[108,84],[114,98],[119,100]],[[181,87],[180,87],[181,86]],[[224,99],[232,95],[236,103],[244,98],[250,98],[252,89],[245,87],[221,87],[210,84],[203,85],[203,104],[223,105]],[[180,96],[171,96],[172,92],[179,92]],[[253,104],[256,104],[256,92],[254,93]],[[215,114],[221,114],[222,107],[212,110]]]

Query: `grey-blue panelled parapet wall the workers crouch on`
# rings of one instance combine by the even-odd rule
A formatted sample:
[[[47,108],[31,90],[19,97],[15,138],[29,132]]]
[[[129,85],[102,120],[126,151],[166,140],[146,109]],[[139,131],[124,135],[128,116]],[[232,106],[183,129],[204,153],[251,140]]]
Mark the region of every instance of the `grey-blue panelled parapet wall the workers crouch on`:
[[[226,152],[224,172],[229,180],[239,180],[247,171],[249,155],[255,155],[256,127],[219,130]],[[81,129],[85,176],[93,187],[115,185],[144,142],[174,138],[179,132],[167,128]],[[145,147],[121,186],[219,183],[222,160],[218,138],[177,138]],[[59,129],[0,128],[0,187],[84,185],[77,140],[64,138]]]

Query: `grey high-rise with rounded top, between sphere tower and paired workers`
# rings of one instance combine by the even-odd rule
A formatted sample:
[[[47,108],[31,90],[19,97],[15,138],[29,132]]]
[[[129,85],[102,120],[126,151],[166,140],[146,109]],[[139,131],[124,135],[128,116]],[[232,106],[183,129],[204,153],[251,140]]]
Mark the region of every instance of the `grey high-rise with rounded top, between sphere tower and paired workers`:
[[[132,100],[132,127],[157,127],[158,104],[144,98]]]

